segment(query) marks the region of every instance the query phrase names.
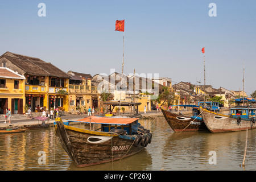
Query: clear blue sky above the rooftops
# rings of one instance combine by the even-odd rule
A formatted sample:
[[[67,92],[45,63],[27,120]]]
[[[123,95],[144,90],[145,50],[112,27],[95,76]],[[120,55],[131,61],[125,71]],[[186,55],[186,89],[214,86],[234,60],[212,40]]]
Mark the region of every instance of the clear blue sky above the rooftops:
[[[46,17],[38,4],[46,4]],[[217,16],[210,17],[209,3]],[[180,81],[256,90],[256,1],[0,1],[0,54],[49,61],[63,71],[121,72],[125,19],[125,69]]]

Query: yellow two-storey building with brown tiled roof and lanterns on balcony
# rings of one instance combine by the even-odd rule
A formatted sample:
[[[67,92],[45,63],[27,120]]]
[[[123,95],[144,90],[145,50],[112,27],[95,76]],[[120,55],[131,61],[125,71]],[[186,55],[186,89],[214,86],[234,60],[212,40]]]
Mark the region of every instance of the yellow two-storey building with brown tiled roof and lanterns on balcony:
[[[32,111],[42,109],[69,109],[69,75],[51,63],[36,57],[6,52],[0,56],[0,64],[24,76],[25,104]],[[23,105],[23,107],[24,107]]]

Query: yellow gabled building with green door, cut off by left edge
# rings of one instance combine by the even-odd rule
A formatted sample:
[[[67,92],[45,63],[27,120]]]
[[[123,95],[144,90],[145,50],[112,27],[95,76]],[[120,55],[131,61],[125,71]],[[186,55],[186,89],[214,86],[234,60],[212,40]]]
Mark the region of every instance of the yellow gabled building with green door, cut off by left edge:
[[[5,66],[0,67],[0,114],[6,114],[6,109],[11,114],[23,114],[25,77]]]

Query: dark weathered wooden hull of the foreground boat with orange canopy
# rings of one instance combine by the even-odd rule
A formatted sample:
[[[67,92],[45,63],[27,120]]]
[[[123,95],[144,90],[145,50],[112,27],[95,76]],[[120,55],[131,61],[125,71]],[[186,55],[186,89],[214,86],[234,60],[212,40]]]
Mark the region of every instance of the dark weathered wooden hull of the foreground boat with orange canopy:
[[[134,146],[133,136],[123,139],[121,135],[79,129],[63,125],[61,121],[56,121],[55,130],[61,146],[77,167],[112,162],[134,155],[144,148]],[[101,138],[101,142],[97,142],[97,138]]]

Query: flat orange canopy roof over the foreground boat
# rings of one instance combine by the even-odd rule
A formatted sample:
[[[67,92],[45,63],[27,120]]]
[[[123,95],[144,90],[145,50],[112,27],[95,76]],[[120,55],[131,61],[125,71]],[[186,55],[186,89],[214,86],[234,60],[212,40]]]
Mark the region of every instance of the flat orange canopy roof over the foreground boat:
[[[134,121],[137,121],[138,118],[114,118],[114,117],[97,117],[91,116],[84,119],[77,120],[78,122],[86,123],[98,123],[98,124],[112,124],[112,125],[127,125]]]

